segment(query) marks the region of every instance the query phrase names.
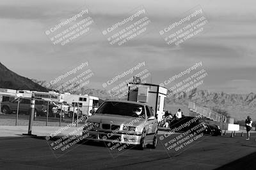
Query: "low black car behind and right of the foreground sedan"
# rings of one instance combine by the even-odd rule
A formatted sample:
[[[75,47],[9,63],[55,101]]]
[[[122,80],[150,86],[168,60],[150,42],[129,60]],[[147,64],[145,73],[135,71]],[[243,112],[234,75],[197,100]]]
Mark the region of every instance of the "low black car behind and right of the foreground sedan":
[[[170,121],[170,124],[169,124],[169,127],[170,129],[175,129],[175,127],[180,127],[180,125],[184,125],[186,124],[187,122],[189,122],[190,120],[192,120],[193,118],[195,117],[182,117],[182,118],[179,118],[179,119],[170,119],[168,121]],[[204,124],[202,124],[204,123]],[[210,125],[208,124],[207,122],[205,122],[204,119],[202,118],[198,118],[196,120],[196,122],[193,122],[191,124],[189,124],[188,126],[180,129],[180,132],[186,132],[188,131],[189,129],[192,129],[193,127],[195,127],[196,125],[199,125],[199,124],[202,124],[202,126],[204,126],[204,134],[211,134],[212,136],[218,136],[218,135],[221,135],[221,129],[219,126],[217,125]]]

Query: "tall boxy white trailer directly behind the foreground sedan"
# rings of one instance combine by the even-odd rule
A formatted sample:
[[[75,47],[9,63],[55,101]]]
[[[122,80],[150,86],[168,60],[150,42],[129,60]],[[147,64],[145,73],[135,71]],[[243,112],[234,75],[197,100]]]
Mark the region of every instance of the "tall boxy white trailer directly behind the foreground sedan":
[[[163,120],[167,89],[149,83],[129,83],[128,101],[148,103],[157,121]]]

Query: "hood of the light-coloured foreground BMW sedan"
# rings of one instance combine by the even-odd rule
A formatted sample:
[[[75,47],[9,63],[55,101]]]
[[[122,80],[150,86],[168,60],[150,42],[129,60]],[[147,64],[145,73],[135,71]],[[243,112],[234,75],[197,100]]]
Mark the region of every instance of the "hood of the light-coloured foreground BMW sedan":
[[[88,122],[97,122],[102,124],[113,124],[113,125],[129,125],[138,126],[145,122],[146,120],[138,117],[124,117],[121,115],[106,115],[97,114],[88,118]]]

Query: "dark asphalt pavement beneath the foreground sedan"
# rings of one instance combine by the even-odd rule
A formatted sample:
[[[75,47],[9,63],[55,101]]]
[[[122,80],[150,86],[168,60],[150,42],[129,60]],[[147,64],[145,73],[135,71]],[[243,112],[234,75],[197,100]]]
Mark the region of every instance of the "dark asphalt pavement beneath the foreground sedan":
[[[255,137],[202,136],[178,152],[164,148],[167,138],[156,149],[118,153],[102,143],[79,143],[60,153],[44,138],[0,138],[0,169],[256,169]]]

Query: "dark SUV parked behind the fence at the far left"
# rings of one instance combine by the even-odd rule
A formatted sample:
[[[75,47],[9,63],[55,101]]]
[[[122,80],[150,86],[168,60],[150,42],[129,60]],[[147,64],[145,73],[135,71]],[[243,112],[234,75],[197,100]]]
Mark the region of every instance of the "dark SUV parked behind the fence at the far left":
[[[19,112],[29,115],[31,99],[20,98]],[[35,115],[42,113],[45,110],[45,101],[35,101]],[[1,103],[1,111],[5,114],[16,112],[18,106],[18,99],[12,101],[4,101]]]

